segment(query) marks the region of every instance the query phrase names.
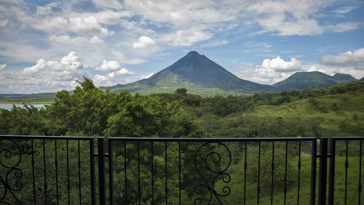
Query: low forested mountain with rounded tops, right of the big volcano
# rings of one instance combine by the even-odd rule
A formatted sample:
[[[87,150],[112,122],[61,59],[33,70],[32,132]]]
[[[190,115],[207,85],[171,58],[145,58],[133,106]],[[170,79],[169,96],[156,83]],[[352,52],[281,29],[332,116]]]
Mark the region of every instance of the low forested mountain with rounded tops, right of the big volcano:
[[[355,80],[355,78],[349,74],[336,73],[333,76],[329,76],[319,71],[297,72],[285,80],[273,84],[273,86],[284,90],[291,90],[344,84],[352,82],[353,80]]]

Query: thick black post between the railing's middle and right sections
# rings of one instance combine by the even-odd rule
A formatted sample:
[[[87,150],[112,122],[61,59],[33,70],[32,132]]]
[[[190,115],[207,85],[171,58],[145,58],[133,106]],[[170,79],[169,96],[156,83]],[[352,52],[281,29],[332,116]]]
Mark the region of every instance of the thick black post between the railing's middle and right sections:
[[[327,138],[320,138],[320,165],[318,168],[318,205],[326,205]]]

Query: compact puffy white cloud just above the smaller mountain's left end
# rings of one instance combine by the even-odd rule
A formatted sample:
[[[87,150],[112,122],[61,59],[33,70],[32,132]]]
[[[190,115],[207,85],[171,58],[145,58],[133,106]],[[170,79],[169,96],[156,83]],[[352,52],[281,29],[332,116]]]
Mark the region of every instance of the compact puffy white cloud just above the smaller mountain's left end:
[[[279,56],[273,59],[265,59],[262,63],[265,69],[272,69],[278,72],[298,71],[301,70],[301,62],[296,58],[291,58],[291,61],[284,61]]]

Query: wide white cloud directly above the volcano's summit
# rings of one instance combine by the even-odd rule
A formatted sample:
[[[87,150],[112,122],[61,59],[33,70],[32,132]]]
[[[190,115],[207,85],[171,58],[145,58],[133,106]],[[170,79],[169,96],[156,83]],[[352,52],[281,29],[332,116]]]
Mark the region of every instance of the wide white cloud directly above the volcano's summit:
[[[159,42],[171,46],[192,46],[199,41],[212,38],[213,34],[209,31],[203,31],[200,28],[190,28],[188,30],[179,30],[174,33],[164,34],[159,38]]]

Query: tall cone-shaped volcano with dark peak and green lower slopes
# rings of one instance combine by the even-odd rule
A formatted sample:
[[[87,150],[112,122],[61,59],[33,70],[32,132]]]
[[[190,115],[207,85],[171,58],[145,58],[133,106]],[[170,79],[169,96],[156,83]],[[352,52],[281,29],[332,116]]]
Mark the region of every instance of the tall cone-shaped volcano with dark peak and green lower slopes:
[[[155,92],[174,92],[177,88],[186,88],[189,93],[201,95],[242,94],[256,92],[277,92],[280,89],[271,85],[262,85],[242,80],[230,73],[205,55],[191,51],[169,67],[150,78],[128,84],[111,86],[111,92],[127,90],[149,94]],[[106,89],[106,87],[100,87]]]

